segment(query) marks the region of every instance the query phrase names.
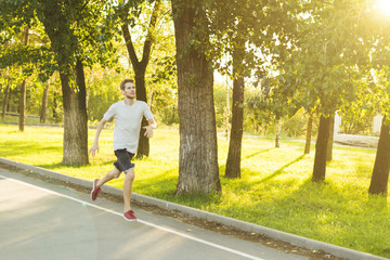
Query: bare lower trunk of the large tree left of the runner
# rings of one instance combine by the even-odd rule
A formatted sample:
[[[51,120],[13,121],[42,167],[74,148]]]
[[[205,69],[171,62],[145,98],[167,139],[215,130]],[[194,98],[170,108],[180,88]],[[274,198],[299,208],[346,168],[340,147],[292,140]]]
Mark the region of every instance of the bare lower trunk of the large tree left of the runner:
[[[86,81],[81,61],[76,64],[77,88],[72,88],[67,75],[60,74],[64,102],[64,157],[67,165],[87,165],[88,128]]]

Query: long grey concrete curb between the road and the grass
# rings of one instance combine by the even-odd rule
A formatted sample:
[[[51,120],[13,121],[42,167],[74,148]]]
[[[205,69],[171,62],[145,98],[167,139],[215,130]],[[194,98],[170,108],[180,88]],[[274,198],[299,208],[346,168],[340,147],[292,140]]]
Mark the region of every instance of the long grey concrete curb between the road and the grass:
[[[80,185],[80,186],[83,186],[83,187],[87,187],[87,188],[92,187],[92,182],[91,181],[87,181],[87,180],[83,180],[83,179],[66,176],[66,174],[55,172],[55,171],[51,171],[51,170],[47,170],[47,169],[43,169],[43,168],[40,168],[40,167],[35,167],[35,166],[21,164],[21,162],[9,160],[9,159],[2,158],[2,157],[0,157],[0,162],[8,164],[8,165],[11,165],[11,166],[15,166],[17,168],[22,168],[22,169],[25,169],[25,170],[30,170],[30,171],[34,171],[34,172],[36,172],[36,173],[38,173],[40,176],[43,176],[43,177],[49,177],[49,178],[52,178],[52,179],[55,179],[55,180],[73,183],[75,185]],[[122,196],[122,190],[117,188],[117,187],[106,185],[106,186],[102,187],[102,191],[104,193],[112,194],[114,196]],[[182,206],[182,205],[165,202],[165,200],[161,200],[161,199],[158,199],[158,198],[153,198],[153,197],[148,197],[148,196],[136,194],[136,193],[132,194],[132,199],[135,200],[135,202],[139,202],[139,203],[153,205],[153,206],[166,209],[166,210],[178,210],[180,212],[190,214],[190,216],[195,217],[195,218],[205,219],[205,220],[209,220],[209,221],[214,221],[214,222],[218,222],[220,224],[227,225],[227,226],[233,226],[233,227],[242,230],[242,231],[251,232],[251,233],[253,232],[253,233],[258,233],[258,234],[264,234],[264,235],[266,235],[266,236],[269,236],[271,238],[278,239],[278,240],[282,240],[282,242],[286,242],[286,243],[289,243],[291,245],[304,247],[307,249],[323,250],[323,251],[325,251],[327,253],[330,253],[333,256],[340,257],[340,258],[347,258],[347,259],[350,259],[350,260],[389,260],[388,258],[381,258],[381,257],[377,257],[377,256],[374,256],[374,255],[369,255],[369,253],[365,253],[365,252],[361,252],[361,251],[356,251],[356,250],[335,246],[335,245],[332,245],[332,244],[327,244],[327,243],[306,238],[306,237],[302,237],[302,236],[289,234],[289,233],[277,231],[277,230],[272,230],[272,229],[269,229],[269,227],[265,227],[265,226],[251,224],[251,223],[244,222],[244,221],[240,221],[240,220],[219,216],[219,214],[216,214],[216,213],[206,212],[206,211],[203,211],[203,210],[199,210],[199,209],[185,207],[185,206]]]

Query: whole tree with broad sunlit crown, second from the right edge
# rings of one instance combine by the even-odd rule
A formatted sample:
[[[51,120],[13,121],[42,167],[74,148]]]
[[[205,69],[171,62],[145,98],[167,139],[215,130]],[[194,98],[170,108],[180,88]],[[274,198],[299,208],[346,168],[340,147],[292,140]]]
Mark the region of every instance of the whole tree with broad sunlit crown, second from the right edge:
[[[365,47],[359,40],[364,8],[362,1],[352,0],[303,2],[304,13],[296,16],[289,41],[275,43],[282,89],[277,93],[288,96],[291,107],[312,110],[318,106],[321,119],[312,178],[315,182],[325,180],[329,118],[342,103],[355,98],[360,80],[356,61],[367,63]]]

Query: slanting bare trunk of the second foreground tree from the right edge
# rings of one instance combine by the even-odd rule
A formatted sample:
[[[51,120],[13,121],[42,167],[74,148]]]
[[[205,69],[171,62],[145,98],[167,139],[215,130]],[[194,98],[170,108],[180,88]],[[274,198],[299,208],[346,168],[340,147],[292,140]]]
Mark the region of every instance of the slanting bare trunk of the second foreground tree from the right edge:
[[[314,169],[312,177],[313,182],[325,181],[326,153],[327,153],[327,144],[329,141],[329,127],[330,127],[330,117],[321,116],[318,135],[315,143]]]

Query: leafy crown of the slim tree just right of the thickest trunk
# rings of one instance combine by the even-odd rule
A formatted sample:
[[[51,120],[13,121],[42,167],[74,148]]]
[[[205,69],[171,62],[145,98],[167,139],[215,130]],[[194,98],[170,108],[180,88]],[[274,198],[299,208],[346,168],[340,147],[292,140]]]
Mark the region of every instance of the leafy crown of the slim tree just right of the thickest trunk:
[[[286,12],[289,1],[223,0],[210,4],[210,56],[214,67],[232,79],[237,75],[266,74],[264,64],[269,62],[265,56],[270,53],[270,44],[291,24]],[[232,70],[234,52],[243,60],[242,64],[234,65],[237,75]]]

